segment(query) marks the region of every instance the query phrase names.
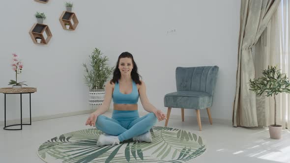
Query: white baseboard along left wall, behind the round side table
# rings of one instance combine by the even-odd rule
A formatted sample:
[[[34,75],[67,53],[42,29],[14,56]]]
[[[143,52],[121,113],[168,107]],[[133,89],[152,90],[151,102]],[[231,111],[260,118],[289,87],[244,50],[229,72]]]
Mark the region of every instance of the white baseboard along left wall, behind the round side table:
[[[67,113],[61,113],[61,114],[53,114],[53,115],[44,115],[44,116],[36,116],[31,117],[31,121],[40,121],[40,120],[46,120],[46,119],[53,119],[53,118],[61,118],[66,116],[73,116],[73,115],[80,115],[80,114],[88,114],[93,112],[94,110],[81,110],[81,111],[74,111],[74,112],[67,112]],[[29,123],[29,118],[22,118],[22,123]],[[19,119],[12,119],[12,120],[6,120],[7,124],[18,124],[20,123]],[[0,121],[0,126],[4,126],[4,121]]]

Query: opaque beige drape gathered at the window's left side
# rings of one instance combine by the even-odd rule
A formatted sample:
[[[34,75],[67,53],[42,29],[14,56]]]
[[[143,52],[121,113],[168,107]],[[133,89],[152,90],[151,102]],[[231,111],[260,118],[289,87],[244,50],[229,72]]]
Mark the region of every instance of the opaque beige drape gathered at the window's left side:
[[[249,80],[255,78],[252,47],[258,42],[275,13],[280,0],[241,0],[241,21],[233,104],[233,126],[258,126],[256,95],[250,91]]]

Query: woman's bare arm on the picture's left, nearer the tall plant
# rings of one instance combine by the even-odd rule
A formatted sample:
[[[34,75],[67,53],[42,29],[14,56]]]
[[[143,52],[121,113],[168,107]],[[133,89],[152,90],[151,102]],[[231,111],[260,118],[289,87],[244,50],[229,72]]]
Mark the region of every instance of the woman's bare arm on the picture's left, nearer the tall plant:
[[[86,125],[95,126],[97,117],[109,110],[112,101],[113,90],[114,84],[111,84],[109,81],[105,87],[105,98],[103,104],[96,111],[89,115],[86,121]]]

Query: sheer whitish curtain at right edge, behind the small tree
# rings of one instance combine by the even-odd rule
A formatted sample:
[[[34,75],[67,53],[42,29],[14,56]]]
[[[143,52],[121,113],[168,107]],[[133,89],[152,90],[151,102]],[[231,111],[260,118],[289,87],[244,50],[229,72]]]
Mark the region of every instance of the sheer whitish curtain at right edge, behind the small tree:
[[[281,3],[255,45],[256,78],[268,65],[277,65],[282,73],[290,77],[290,2]],[[274,122],[274,100],[271,97],[257,96],[257,118],[259,126],[268,126]],[[277,124],[290,129],[290,95],[277,96]]]

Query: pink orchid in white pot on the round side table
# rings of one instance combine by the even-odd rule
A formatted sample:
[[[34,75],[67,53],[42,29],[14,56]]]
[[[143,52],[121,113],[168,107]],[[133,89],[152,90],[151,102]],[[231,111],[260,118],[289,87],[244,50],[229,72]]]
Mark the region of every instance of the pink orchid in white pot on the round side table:
[[[15,71],[15,74],[16,74],[16,81],[10,80],[8,83],[8,85],[12,85],[12,88],[22,88],[22,85],[27,85],[24,83],[26,81],[17,82],[17,74],[21,74],[22,69],[23,69],[23,64],[18,59],[18,55],[16,55],[15,53],[12,54],[12,70]]]

